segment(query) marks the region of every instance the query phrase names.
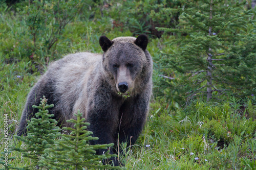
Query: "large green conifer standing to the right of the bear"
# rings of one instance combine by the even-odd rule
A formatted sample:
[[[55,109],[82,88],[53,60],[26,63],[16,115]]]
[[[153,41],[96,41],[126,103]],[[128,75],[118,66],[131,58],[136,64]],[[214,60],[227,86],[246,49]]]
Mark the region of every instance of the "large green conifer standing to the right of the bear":
[[[165,70],[174,69],[182,75],[164,83],[175,86],[173,93],[185,94],[187,101],[197,96],[210,101],[222,94],[256,92],[255,27],[248,28],[255,21],[251,10],[244,10],[245,1],[234,5],[227,2],[181,1],[182,7],[166,10],[181,13],[177,29],[158,28],[187,35],[169,42],[179,44],[179,52],[166,54],[159,61]]]

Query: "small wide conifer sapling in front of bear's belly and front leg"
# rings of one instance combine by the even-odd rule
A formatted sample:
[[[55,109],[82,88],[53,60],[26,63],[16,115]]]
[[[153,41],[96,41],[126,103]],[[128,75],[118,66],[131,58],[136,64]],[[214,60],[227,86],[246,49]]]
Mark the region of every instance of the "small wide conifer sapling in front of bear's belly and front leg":
[[[44,156],[39,162],[41,166],[48,166],[50,169],[83,169],[87,168],[106,168],[106,169],[125,169],[119,166],[102,165],[102,159],[109,159],[116,155],[110,155],[109,152],[104,155],[95,155],[98,149],[107,149],[113,146],[111,144],[89,145],[90,140],[98,140],[98,137],[92,137],[91,131],[87,131],[89,123],[84,122],[82,114],[78,111],[75,114],[77,120],[67,120],[74,124],[74,128],[63,128],[70,134],[62,134],[61,139],[56,141],[56,148],[47,149],[50,155]]]

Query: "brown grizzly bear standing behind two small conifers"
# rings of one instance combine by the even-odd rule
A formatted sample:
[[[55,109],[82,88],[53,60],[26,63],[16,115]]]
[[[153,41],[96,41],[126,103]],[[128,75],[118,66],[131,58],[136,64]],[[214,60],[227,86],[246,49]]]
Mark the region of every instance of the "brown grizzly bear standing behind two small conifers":
[[[26,135],[27,120],[31,119],[43,95],[58,126],[72,126],[66,120],[78,110],[90,123],[88,130],[99,140],[91,144],[127,142],[133,145],[142,131],[152,95],[153,61],[146,50],[144,34],[118,37],[112,41],[99,39],[103,55],[70,54],[53,62],[28,94],[17,135]],[[126,95],[126,97],[123,97]],[[115,148],[115,147],[114,147]],[[106,150],[98,150],[104,154]],[[116,153],[110,149],[110,153]],[[117,158],[111,158],[119,165]],[[107,163],[107,162],[103,162]]]

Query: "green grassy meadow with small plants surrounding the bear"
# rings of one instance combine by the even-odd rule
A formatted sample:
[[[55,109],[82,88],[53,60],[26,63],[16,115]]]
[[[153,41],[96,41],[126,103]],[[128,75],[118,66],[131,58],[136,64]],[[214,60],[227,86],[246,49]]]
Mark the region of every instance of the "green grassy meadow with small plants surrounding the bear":
[[[138,2],[135,5],[140,11],[142,4]],[[134,9],[129,8],[131,3],[129,0],[86,1],[82,10],[73,11],[76,13],[70,16],[72,19],[59,32],[54,32],[56,42],[53,44],[50,41],[55,39],[51,39],[51,35],[54,35],[51,31],[57,28],[54,25],[56,22],[50,21],[41,27],[28,22],[33,14],[28,9],[28,1],[20,1],[11,7],[6,3],[0,4],[1,156],[4,156],[5,150],[5,127],[8,128],[8,150],[15,146],[26,147],[13,135],[31,87],[51,62],[77,52],[102,53],[98,42],[101,35],[113,39],[146,33],[150,39],[147,50],[154,61],[153,96],[146,125],[136,144],[130,149],[120,143],[120,147],[126,148],[124,156],[120,156],[125,167],[256,169],[256,94],[244,98],[228,95],[220,101],[208,103],[197,98],[189,105],[172,100],[175,98],[169,95],[172,86],[161,86],[161,80],[166,78],[159,76],[162,66],[158,61],[162,54],[179,50],[178,45],[165,43],[175,39],[175,36],[163,34],[158,38],[158,35],[152,34],[147,23],[136,18]],[[126,16],[131,17],[129,22],[120,19],[127,15],[127,11],[134,14]],[[44,13],[39,15],[45,16]],[[53,17],[50,14],[46,16]],[[45,21],[44,18],[42,20]],[[172,27],[175,27],[175,23],[172,23]],[[9,162],[13,167],[23,167],[31,161],[16,151],[10,153],[9,157],[15,157]],[[6,167],[0,164],[0,168]]]

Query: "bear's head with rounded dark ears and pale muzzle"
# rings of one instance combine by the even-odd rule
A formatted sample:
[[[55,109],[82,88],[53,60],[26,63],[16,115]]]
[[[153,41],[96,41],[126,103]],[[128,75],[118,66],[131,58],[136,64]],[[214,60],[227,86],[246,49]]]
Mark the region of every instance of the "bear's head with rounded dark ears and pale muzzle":
[[[100,37],[99,43],[104,52],[103,69],[112,79],[117,91],[132,93],[135,86],[141,82],[141,76],[149,65],[148,58],[151,58],[146,51],[147,42],[147,36],[144,34],[137,38],[118,37],[112,41],[105,36]]]

